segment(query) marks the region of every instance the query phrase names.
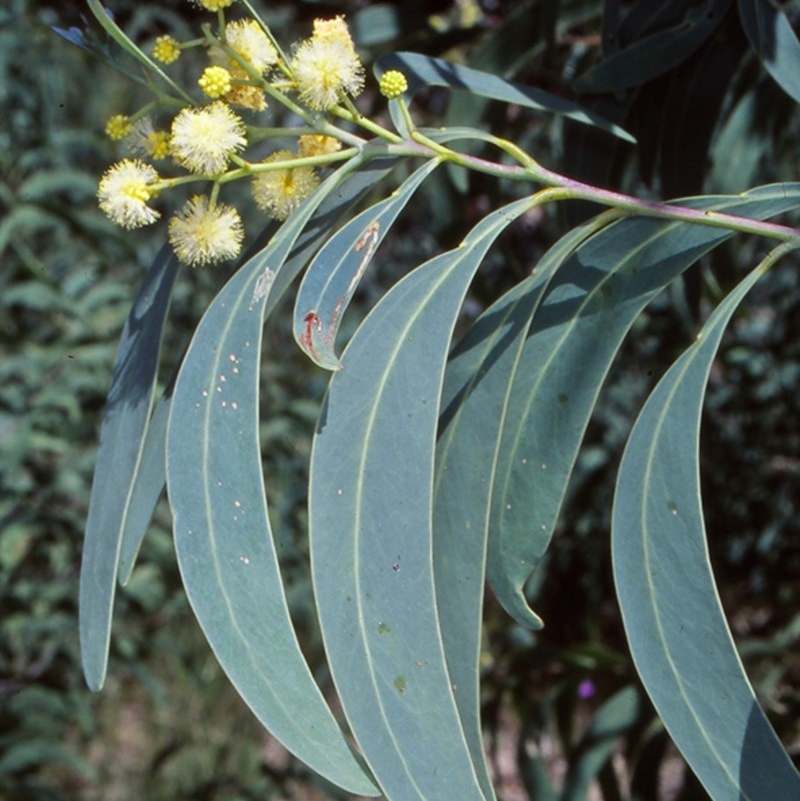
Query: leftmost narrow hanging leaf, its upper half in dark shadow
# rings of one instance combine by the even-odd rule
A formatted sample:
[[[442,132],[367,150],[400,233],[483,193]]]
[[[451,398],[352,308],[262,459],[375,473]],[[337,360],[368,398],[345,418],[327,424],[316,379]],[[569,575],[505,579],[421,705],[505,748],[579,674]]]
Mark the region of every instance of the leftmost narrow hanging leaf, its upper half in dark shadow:
[[[108,392],[81,561],[79,617],[86,683],[103,686],[120,540],[153,399],[161,335],[178,264],[164,248],[125,323]]]

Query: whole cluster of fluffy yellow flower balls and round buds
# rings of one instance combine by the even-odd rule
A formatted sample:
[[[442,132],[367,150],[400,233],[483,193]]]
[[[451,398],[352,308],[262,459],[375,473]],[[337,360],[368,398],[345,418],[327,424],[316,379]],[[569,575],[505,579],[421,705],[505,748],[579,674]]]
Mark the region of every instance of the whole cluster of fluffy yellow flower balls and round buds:
[[[203,265],[234,258],[244,238],[238,211],[217,200],[224,183],[251,176],[256,205],[277,220],[289,217],[317,188],[316,165],[333,161],[342,147],[340,138],[330,135],[336,129],[321,113],[349,103],[362,90],[364,68],[341,16],[316,20],[311,36],[284,58],[261,21],[225,21],[223,10],[234,0],[192,2],[219,14],[217,35],[208,28],[204,31],[209,61],[197,84],[205,102],[184,105],[163,128],[157,128],[151,116],[158,104],[130,117],[111,117],[106,132],[114,140],[124,140],[131,157],[106,171],[97,194],[100,208],[111,220],[133,229],[159,218],[150,203],[161,192],[195,180],[210,182],[208,195],[192,195],[169,222],[169,241],[178,258]],[[184,49],[200,43],[203,40],[181,43],[169,35],[159,36],[151,53],[168,65]],[[405,78],[397,72],[387,73],[381,83],[387,97],[405,89]],[[244,151],[251,134],[254,141],[263,139],[264,129],[249,129],[233,107],[261,111],[267,95],[302,116],[308,133],[298,136],[296,151],[281,148],[249,162]],[[166,159],[186,173],[162,177],[149,163]]]

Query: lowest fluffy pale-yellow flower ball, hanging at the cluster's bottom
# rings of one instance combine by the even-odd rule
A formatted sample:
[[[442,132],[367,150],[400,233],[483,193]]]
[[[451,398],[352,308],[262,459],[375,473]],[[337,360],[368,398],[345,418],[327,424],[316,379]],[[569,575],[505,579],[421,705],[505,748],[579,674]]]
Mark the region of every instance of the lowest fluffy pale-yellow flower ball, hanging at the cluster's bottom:
[[[238,255],[244,229],[239,212],[204,195],[190,198],[169,222],[169,241],[186,264],[212,264]]]

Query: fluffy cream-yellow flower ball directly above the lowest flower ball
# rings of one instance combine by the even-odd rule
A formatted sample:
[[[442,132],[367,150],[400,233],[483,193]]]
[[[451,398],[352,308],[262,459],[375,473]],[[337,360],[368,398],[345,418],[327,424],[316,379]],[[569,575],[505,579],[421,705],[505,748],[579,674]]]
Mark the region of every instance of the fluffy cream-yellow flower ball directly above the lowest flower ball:
[[[247,144],[241,118],[221,101],[185,108],[172,121],[172,157],[191,172],[216,175]]]

